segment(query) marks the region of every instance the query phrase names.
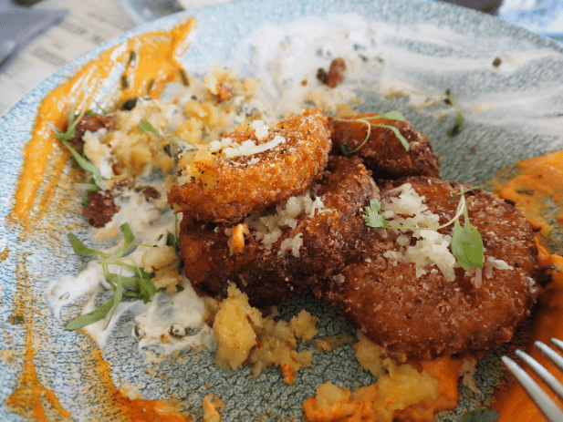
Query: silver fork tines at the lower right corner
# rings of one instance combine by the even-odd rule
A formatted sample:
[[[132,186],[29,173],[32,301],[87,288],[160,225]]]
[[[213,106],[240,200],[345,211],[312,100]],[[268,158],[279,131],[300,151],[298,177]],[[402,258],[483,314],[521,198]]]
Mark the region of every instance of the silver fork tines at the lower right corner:
[[[558,346],[558,349],[563,351],[563,342],[561,340],[552,338],[551,343]],[[563,357],[561,355],[558,355],[557,352],[542,342],[536,342],[534,345],[541,351],[541,353],[546,355],[554,365],[558,366],[558,368],[563,371]],[[527,355],[527,353],[522,350],[516,350],[516,355],[526,362],[527,365],[534,370],[537,376],[544,380],[547,386],[549,386],[555,394],[563,398],[563,385],[555,376],[551,375],[545,367],[537,363],[536,359]],[[539,409],[543,412],[545,417],[547,417],[547,419],[551,422],[563,421],[563,412],[555,404],[551,397],[547,396],[547,393],[542,389],[542,387],[539,386],[531,376],[528,376],[527,372],[518,366],[510,357],[503,356],[502,359],[505,365],[508,366],[508,369],[512,371],[514,376],[516,376],[516,379],[527,391],[527,394],[532,398],[532,400],[534,400],[537,407],[539,407]]]

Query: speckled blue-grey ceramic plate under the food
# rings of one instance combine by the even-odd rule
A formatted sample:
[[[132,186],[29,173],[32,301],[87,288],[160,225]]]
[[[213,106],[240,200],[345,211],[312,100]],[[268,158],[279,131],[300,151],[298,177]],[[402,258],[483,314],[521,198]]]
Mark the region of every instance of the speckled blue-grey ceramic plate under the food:
[[[401,110],[433,142],[446,180],[480,183],[516,160],[563,149],[563,46],[493,16],[406,0],[251,0],[190,14],[197,18],[198,27],[184,63],[193,75],[203,75],[205,69],[219,63],[236,67],[243,76],[260,73],[268,64],[269,53],[257,52],[251,48],[252,42],[247,42],[256,33],[272,43],[289,40],[291,44],[291,39],[308,40],[322,36],[327,28],[339,31],[352,25],[355,29],[349,30],[342,42],[351,50],[365,47],[366,57],[359,65],[363,70],[360,88],[355,91],[362,99],[360,111]],[[22,146],[30,137],[41,99],[109,46],[136,34],[171,28],[185,17],[164,17],[100,46],[48,77],[0,118],[0,253],[7,253],[0,261],[0,420],[23,420],[5,407],[5,400],[20,385],[27,341],[36,352],[38,380],[53,390],[72,419],[119,419],[120,408],[103,387],[108,379],[100,369],[96,346],[84,335],[65,331],[52,316],[45,295],[47,283],[62,274],[77,273],[86,265],[66,240],[67,232],[85,230],[85,221],[77,215],[82,199],[72,192],[54,191],[51,201],[68,205],[47,212],[30,230],[6,217],[14,203]],[[315,24],[308,26],[307,22]],[[307,31],[308,27],[324,29]],[[355,31],[364,30],[370,31],[369,45],[355,46]],[[292,34],[297,38],[291,38]],[[292,46],[299,45],[295,41]],[[497,57],[500,65],[495,67]],[[326,66],[329,62],[326,58]],[[296,66],[306,64],[307,60]],[[404,95],[412,91],[441,93],[446,88],[451,89],[465,116],[463,129],[455,137],[447,134],[455,124],[454,108],[443,101],[422,107],[421,98]],[[63,174],[67,171],[68,167]],[[289,315],[302,306],[323,315],[318,335],[349,329],[337,310],[308,296],[282,306],[281,311]],[[22,313],[27,320],[14,318]],[[320,384],[330,380],[353,388],[373,381],[357,364],[348,345],[331,353],[314,352],[313,365],[298,373],[295,386],[286,386],[278,369],[257,378],[247,369],[218,370],[212,363],[213,353],[206,350],[162,361],[146,360],[130,335],[131,327],[131,315],[124,314],[103,351],[103,358],[111,365],[112,383],[120,386],[130,382],[142,398],[175,397],[194,416],[201,414],[203,396],[213,392],[224,400],[227,421],[258,417],[288,420],[290,416],[300,420],[302,402]],[[477,366],[480,392],[462,386],[460,407],[440,415],[440,420],[459,420],[466,409],[487,403],[500,382],[501,352],[491,352]],[[48,420],[63,419],[44,402]]]

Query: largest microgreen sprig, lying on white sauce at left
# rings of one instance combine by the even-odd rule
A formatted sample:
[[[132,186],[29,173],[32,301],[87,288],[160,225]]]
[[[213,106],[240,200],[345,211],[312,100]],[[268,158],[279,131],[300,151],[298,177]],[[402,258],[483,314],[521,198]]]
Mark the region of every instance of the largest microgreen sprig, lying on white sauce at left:
[[[70,321],[65,327],[67,330],[76,330],[85,327],[89,324],[94,324],[103,319],[109,314],[108,321],[104,329],[109,325],[111,316],[115,313],[118,305],[123,296],[130,296],[142,300],[145,304],[151,301],[154,296],[161,289],[156,289],[151,278],[154,273],[147,273],[142,267],[137,265],[130,258],[123,257],[131,247],[134,246],[147,246],[151,245],[143,243],[133,243],[135,236],[130,230],[129,224],[124,223],[120,226],[120,231],[123,233],[123,246],[120,251],[115,255],[110,256],[106,252],[101,252],[96,249],[87,247],[83,242],[78,240],[72,233],[68,233],[68,242],[72,246],[74,252],[80,255],[99,255],[99,265],[103,269],[104,276],[115,293],[109,298],[109,301],[101,305],[98,309],[90,312],[89,314],[78,315]],[[109,265],[117,265],[120,267],[120,273],[109,273]],[[134,275],[123,276],[123,270],[130,270]]]

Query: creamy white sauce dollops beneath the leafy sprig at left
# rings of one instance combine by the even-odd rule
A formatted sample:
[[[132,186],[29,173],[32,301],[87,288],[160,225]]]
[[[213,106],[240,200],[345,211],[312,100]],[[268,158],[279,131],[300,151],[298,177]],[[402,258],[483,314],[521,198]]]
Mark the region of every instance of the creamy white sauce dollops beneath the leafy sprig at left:
[[[127,222],[132,232],[136,235],[135,242],[164,246],[166,245],[167,234],[175,232],[175,223],[172,211],[161,214],[149,202],[140,200],[140,195],[135,192],[128,192],[122,195],[117,202],[120,204],[121,211],[114,216],[111,224],[119,226]],[[107,230],[104,228],[103,230]],[[93,233],[96,231],[92,231]],[[87,245],[90,242],[86,242]],[[105,252],[114,254],[123,245],[120,240],[118,244],[109,248]],[[147,246],[138,246],[128,255],[123,257],[123,261],[141,262],[141,255],[148,250]],[[121,267],[109,265],[109,273],[120,273]],[[127,269],[122,270],[122,275],[129,276],[132,272]],[[116,312],[111,317],[108,324],[107,318],[95,324],[89,324],[82,330],[87,333],[101,349],[108,342],[121,315],[131,312],[134,324],[137,326],[139,337],[135,335],[135,328],[131,328],[131,333],[136,338],[140,338],[139,348],[144,350],[147,345],[156,346],[161,354],[169,355],[174,351],[182,350],[193,346],[214,345],[213,330],[203,322],[205,308],[203,299],[193,292],[193,288],[184,278],[184,290],[180,293],[170,295],[168,293],[157,293],[152,297],[149,304],[141,301],[126,301],[120,303]],[[108,291],[109,283],[106,281],[103,269],[99,260],[92,260],[87,267],[80,273],[73,275],[67,274],[58,280],[54,280],[47,286],[47,302],[53,309],[53,314],[61,324],[61,315],[64,306],[72,305],[80,298],[88,297],[87,304],[82,308],[80,314],[88,314],[96,309],[96,297],[98,293]],[[182,337],[172,337],[169,331],[172,324],[181,324],[188,334]],[[107,325],[107,327],[106,327]]]

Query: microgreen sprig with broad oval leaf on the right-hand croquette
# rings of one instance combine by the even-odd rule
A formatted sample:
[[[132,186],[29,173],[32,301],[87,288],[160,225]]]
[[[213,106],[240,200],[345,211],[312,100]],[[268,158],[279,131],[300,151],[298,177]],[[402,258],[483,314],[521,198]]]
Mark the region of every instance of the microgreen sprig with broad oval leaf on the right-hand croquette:
[[[389,221],[379,213],[381,210],[381,202],[375,198],[370,200],[370,205],[364,207],[364,220],[366,225],[373,228],[394,229],[394,230],[441,230],[452,223],[454,231],[452,233],[452,253],[454,258],[459,262],[462,268],[469,272],[472,267],[483,268],[483,239],[481,234],[475,229],[474,225],[469,221],[467,211],[467,203],[464,193],[469,190],[480,189],[479,187],[468,188],[458,193],[460,201],[457,204],[454,218],[438,227],[399,227],[391,226]],[[461,225],[459,218],[464,214],[464,225]]]

